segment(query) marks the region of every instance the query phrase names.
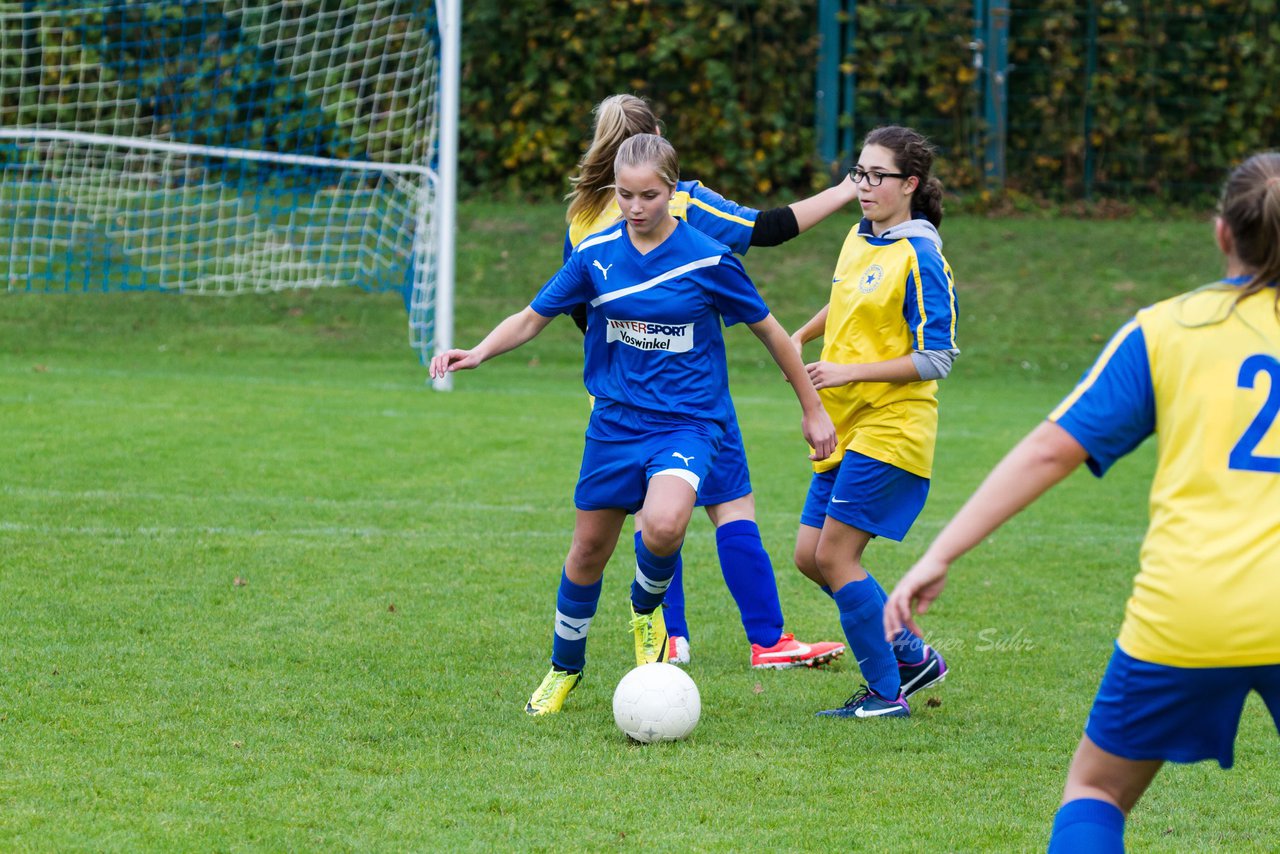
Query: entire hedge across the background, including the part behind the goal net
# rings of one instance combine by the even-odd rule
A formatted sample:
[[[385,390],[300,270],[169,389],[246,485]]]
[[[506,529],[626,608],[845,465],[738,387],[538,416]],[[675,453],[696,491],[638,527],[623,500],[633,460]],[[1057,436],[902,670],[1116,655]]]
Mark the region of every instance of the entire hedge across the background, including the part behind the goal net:
[[[421,20],[434,9],[434,0],[406,3],[420,4],[412,8]],[[305,12],[361,20],[371,13],[360,0],[248,4],[227,17],[220,3],[170,0],[108,13],[83,5],[56,31],[0,29],[0,123],[52,127],[74,118],[108,127],[110,105],[93,115],[59,99],[35,108],[15,95],[19,83],[111,81],[196,28],[202,40],[227,45],[228,59],[215,65],[192,49],[141,78],[137,104],[152,113],[142,127],[150,118],[179,140],[330,156],[348,154],[352,128],[379,132],[380,159],[413,145],[407,129],[381,127],[381,114],[353,111],[365,82],[338,81],[324,97],[282,83],[276,59],[242,32],[262,15],[285,15],[306,36],[314,18]],[[973,1],[854,5],[856,37],[842,61],[856,81],[855,114],[846,119],[854,138],[877,124],[913,124],[938,143],[951,189],[982,187]],[[681,151],[684,174],[737,198],[787,197],[828,181],[815,151],[817,4],[465,0],[463,18],[463,195],[567,192],[591,108],[614,92],[650,99]],[[143,24],[147,37],[138,36]],[[380,36],[390,44],[424,33],[388,24]],[[365,58],[370,68],[376,59]],[[1280,140],[1280,0],[1014,0],[1009,59],[1007,184],[1030,196],[1201,198],[1228,166]],[[214,86],[228,77],[234,86]]]

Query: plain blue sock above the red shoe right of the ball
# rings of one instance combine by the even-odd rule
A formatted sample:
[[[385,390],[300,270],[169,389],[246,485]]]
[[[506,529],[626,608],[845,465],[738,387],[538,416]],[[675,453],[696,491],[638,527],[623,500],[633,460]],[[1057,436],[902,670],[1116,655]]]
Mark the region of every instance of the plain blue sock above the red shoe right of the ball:
[[[742,617],[746,639],[760,647],[774,645],[782,636],[782,602],[760,528],[750,519],[724,522],[716,529],[716,552],[724,585]],[[667,629],[671,631],[669,620]]]

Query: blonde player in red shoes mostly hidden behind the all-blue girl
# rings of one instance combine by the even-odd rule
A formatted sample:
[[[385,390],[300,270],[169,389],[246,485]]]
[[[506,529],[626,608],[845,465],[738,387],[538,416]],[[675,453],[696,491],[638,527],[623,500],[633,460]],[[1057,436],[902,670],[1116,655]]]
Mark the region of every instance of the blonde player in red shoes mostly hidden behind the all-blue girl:
[[[618,222],[621,213],[613,193],[613,157],[622,141],[636,133],[660,133],[658,117],[649,104],[634,95],[613,95],[596,105],[591,143],[571,178],[564,234],[564,259],[584,239]],[[724,243],[739,255],[751,246],[776,246],[796,237],[854,200],[856,188],[847,178],[809,198],[772,210],[739,205],[708,189],[696,181],[680,181],[671,200],[673,216]],[[579,328],[586,330],[586,306],[573,311]],[[741,615],[751,644],[753,667],[799,667],[824,665],[841,653],[835,641],[803,643],[783,631],[782,603],[778,598],[773,565],[755,522],[755,497],[746,463],[746,449],[737,420],[730,425],[716,465],[698,495],[716,525],[716,549],[721,572]],[[637,528],[643,520],[637,517]],[[640,530],[636,538],[640,538]],[[672,663],[689,661],[689,624],[685,618],[682,565],[664,600],[667,629],[671,632]]]

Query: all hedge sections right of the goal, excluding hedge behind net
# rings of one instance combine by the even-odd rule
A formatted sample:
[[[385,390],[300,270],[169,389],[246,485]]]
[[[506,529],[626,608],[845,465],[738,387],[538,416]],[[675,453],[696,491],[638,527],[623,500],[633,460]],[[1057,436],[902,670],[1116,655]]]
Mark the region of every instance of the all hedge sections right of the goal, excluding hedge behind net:
[[[951,189],[982,187],[974,4],[855,8],[842,63],[856,81],[855,140],[911,124],[938,143]],[[591,105],[617,91],[655,104],[686,175],[740,198],[827,178],[814,151],[815,4],[490,0],[465,17],[472,192],[566,191]],[[1009,60],[1007,186],[1030,196],[1201,201],[1280,140],[1277,0],[1015,0]]]

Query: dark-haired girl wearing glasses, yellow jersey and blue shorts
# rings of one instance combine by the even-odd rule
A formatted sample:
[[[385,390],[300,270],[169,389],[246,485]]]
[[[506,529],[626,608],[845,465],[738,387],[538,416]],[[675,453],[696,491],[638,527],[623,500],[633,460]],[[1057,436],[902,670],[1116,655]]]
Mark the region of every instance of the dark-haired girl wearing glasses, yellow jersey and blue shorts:
[[[910,128],[872,131],[852,179],[863,220],[836,262],[829,302],[792,335],[836,423],[836,452],[814,463],[796,534],[796,566],[836,600],[867,686],[836,717],[904,717],[908,697],[942,680],[946,663],[910,632],[886,641],[884,590],[863,566],[873,536],[901,540],[929,493],[937,380],[959,353],[951,268],[942,257],[942,186],[933,149]]]

